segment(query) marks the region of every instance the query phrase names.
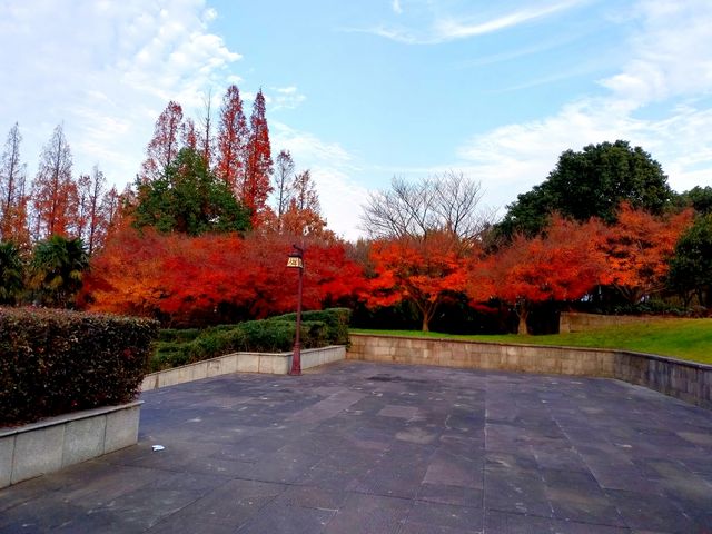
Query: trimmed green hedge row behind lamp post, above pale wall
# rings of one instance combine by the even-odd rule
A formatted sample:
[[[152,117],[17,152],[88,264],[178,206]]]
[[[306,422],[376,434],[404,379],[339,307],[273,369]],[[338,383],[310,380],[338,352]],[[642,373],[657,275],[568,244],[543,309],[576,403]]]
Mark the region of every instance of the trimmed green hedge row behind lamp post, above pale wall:
[[[301,347],[348,344],[349,319],[350,310],[347,308],[305,312],[299,333]],[[296,314],[204,330],[161,330],[149,370],[168,369],[235,352],[289,352],[294,347],[295,334]]]

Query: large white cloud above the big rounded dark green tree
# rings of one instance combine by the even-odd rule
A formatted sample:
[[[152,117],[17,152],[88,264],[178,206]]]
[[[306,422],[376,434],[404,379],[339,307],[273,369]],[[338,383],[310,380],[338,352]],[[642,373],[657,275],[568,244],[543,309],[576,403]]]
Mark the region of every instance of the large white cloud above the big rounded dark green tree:
[[[709,2],[640,2],[631,59],[603,80],[609,95],[557,113],[474,136],[461,167],[503,205],[542,182],[562,151],[625,139],[649,151],[679,191],[712,184],[712,20]],[[680,103],[675,103],[680,102]],[[649,105],[655,105],[654,110]]]

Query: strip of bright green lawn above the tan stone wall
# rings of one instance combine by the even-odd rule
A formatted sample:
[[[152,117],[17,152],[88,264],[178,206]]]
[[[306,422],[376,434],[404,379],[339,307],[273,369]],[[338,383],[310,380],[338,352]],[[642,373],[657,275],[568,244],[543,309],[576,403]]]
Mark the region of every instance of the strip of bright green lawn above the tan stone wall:
[[[570,347],[623,348],[639,353],[673,356],[712,364],[712,319],[651,319],[591,332],[546,336],[457,336],[417,330],[364,330],[358,334],[437,337],[471,342],[517,343],[525,345],[560,345]]]

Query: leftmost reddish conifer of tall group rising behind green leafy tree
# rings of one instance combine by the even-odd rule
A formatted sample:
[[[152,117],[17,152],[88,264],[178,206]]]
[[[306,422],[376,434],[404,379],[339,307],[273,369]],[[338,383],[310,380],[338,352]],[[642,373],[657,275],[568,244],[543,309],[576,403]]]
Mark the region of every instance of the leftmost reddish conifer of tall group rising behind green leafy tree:
[[[171,100],[156,120],[154,137],[146,147],[147,158],[141,165],[141,181],[152,181],[164,176],[178,156],[182,134],[182,108]]]

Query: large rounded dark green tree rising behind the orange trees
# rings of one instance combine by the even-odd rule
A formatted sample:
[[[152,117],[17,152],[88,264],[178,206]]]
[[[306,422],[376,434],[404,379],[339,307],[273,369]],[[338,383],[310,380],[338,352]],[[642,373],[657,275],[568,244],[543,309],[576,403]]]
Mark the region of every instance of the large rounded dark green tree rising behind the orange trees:
[[[589,145],[563,152],[544,182],[508,205],[497,233],[533,236],[553,211],[581,222],[593,216],[614,222],[622,201],[659,215],[672,196],[662,167],[641,147],[621,140]]]

